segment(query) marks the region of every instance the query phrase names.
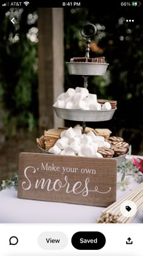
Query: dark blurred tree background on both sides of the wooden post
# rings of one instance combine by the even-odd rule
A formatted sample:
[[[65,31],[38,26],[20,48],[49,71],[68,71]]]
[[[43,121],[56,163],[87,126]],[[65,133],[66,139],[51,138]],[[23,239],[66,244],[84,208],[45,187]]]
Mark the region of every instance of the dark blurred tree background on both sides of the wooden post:
[[[0,99],[5,134],[10,137],[19,127],[38,130],[38,15],[30,8],[0,12]],[[15,26],[10,22],[13,16]],[[84,57],[85,40],[80,30],[87,22],[95,24],[98,32],[91,42],[90,57],[104,55],[110,65],[105,76],[88,79],[88,90],[98,99],[118,101],[118,110],[110,121],[87,125],[108,127],[116,135],[124,132],[136,154],[142,149],[143,26],[139,18],[125,22],[128,17],[125,7],[116,12],[102,6],[96,10],[64,9],[64,60]],[[65,90],[83,86],[81,76],[68,75],[66,64],[63,86]]]

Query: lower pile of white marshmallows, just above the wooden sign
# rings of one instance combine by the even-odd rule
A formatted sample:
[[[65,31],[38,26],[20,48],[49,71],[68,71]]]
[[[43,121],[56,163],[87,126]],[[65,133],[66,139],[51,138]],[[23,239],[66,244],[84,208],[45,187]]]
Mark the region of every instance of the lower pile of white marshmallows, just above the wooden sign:
[[[48,152],[56,155],[102,158],[98,148],[110,148],[110,143],[105,141],[104,137],[96,136],[91,131],[82,134],[80,127],[70,127],[61,132],[60,137]]]

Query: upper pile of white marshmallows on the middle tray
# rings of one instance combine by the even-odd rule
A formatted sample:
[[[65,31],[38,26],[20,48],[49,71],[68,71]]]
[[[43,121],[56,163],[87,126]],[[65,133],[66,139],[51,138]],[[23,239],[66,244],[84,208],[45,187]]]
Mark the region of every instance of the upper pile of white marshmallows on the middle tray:
[[[69,88],[56,99],[54,107],[81,110],[110,110],[111,104],[105,102],[102,106],[97,102],[96,94],[88,92],[87,88]]]

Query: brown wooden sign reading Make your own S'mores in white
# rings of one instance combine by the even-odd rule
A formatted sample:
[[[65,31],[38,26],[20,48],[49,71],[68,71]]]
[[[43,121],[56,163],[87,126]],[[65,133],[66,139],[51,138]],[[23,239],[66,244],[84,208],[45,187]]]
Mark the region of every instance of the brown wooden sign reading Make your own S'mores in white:
[[[116,201],[116,160],[21,153],[18,197],[108,206]]]

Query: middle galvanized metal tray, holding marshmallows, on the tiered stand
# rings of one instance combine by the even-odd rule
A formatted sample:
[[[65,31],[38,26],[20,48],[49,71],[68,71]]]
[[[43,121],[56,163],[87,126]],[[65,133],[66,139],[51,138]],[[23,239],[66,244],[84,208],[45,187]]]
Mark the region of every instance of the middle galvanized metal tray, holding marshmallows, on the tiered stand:
[[[58,118],[72,121],[98,122],[110,120],[117,108],[111,110],[76,110],[67,108],[53,108]]]

